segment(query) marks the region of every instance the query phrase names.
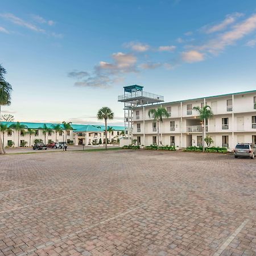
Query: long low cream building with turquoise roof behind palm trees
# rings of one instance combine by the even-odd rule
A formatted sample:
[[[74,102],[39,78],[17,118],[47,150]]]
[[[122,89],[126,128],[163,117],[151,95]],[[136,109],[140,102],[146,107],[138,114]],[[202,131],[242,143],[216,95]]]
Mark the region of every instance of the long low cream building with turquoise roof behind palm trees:
[[[1,122],[3,125],[10,127],[15,122]],[[43,143],[51,142],[63,142],[67,141],[75,145],[85,144],[92,145],[98,144],[100,142],[105,142],[105,126],[98,125],[76,125],[71,124],[72,130],[64,130],[62,124],[60,131],[55,131],[53,129],[57,123],[28,123],[20,122],[20,125],[24,125],[24,130],[15,130],[10,128],[9,130],[1,131],[1,138],[4,146],[32,146],[35,143],[35,139],[42,139]],[[49,128],[49,131],[44,133],[43,126],[46,125]],[[109,142],[118,142],[119,138],[122,138],[124,127],[123,126],[109,126],[111,131],[108,132],[108,141]],[[109,129],[108,127],[108,129]],[[28,129],[33,129],[34,134],[30,135],[27,133]]]

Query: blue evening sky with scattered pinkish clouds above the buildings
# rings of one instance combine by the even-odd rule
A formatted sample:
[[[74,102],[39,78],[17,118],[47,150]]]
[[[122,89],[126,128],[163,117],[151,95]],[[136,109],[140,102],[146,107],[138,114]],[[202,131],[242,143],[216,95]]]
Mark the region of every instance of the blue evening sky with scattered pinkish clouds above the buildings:
[[[256,89],[255,0],[1,0],[15,121],[123,125],[123,86],[164,101]]]

